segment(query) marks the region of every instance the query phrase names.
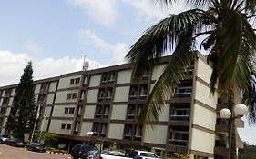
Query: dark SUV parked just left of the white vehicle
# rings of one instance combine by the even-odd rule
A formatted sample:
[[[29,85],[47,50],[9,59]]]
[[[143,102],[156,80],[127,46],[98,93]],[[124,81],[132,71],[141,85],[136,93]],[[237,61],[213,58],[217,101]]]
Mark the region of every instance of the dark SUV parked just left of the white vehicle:
[[[91,150],[97,151],[97,148],[93,145],[76,144],[71,150],[71,155],[74,159],[78,159],[78,158],[87,159],[87,153]]]

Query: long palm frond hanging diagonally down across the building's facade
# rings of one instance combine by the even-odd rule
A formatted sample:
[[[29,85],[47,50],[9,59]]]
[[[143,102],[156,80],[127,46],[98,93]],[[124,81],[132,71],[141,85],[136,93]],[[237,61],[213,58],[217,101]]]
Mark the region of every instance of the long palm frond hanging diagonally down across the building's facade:
[[[139,115],[140,123],[158,121],[161,109],[165,106],[165,100],[175,93],[180,80],[184,79],[185,70],[191,65],[195,56],[195,53],[191,52],[195,48],[192,30],[192,25],[189,25],[189,29],[180,35],[178,45],[173,55],[170,56],[168,65],[148,95],[147,103]]]

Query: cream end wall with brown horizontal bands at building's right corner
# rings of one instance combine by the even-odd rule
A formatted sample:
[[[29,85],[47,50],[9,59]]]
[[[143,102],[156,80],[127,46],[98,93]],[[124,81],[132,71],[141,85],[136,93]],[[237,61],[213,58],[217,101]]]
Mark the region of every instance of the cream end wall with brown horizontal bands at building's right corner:
[[[217,93],[210,95],[211,68],[197,60],[190,110],[189,150],[214,154]],[[203,142],[199,142],[203,139]]]

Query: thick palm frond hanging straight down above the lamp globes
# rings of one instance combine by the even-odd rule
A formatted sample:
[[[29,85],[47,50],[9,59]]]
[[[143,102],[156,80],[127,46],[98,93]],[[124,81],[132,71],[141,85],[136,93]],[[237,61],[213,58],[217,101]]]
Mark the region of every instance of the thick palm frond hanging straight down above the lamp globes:
[[[242,15],[237,11],[230,11],[229,14],[221,17],[217,25],[215,45],[211,49],[214,54],[213,74],[210,79],[211,92],[217,84],[220,90],[228,90],[232,84],[234,67],[241,51],[242,41]],[[217,76],[216,76],[217,75]]]

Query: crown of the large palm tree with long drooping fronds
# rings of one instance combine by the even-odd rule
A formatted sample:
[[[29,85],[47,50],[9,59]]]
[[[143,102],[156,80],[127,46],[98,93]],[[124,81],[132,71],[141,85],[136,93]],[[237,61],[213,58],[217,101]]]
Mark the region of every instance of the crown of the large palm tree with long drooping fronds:
[[[174,5],[179,0],[158,0],[164,5]],[[165,97],[173,95],[185,70],[194,61],[197,39],[208,53],[212,66],[210,90],[227,95],[230,108],[235,92],[249,107],[248,118],[256,122],[255,67],[256,35],[255,0],[186,0],[191,9],[178,15],[169,15],[153,25],[132,45],[126,55],[133,68],[133,75],[141,75],[147,67],[158,64],[160,56],[167,52],[169,63],[148,95],[140,114],[144,124],[158,121]]]

